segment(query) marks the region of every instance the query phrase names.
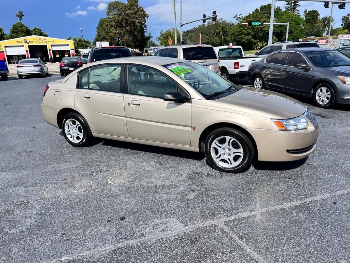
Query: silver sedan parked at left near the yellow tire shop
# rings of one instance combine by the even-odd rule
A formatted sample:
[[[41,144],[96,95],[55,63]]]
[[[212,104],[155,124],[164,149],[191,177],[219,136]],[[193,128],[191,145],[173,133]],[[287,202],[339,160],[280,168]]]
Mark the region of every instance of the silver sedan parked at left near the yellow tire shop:
[[[44,77],[49,74],[49,69],[45,64],[46,62],[42,62],[41,59],[22,59],[17,65],[17,75],[19,79],[27,75]]]

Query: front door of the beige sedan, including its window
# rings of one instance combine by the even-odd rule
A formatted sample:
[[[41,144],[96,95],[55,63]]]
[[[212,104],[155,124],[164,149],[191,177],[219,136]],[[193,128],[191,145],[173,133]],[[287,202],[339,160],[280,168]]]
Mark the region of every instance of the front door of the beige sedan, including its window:
[[[143,74],[140,74],[143,72]],[[129,65],[128,93],[124,95],[130,138],[190,145],[191,102],[164,101],[168,92],[186,94],[173,79],[154,68]]]

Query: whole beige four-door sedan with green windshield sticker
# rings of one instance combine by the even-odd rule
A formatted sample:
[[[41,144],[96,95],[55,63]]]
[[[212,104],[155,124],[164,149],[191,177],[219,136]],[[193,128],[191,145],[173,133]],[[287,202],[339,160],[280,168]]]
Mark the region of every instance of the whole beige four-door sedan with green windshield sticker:
[[[93,137],[194,152],[211,167],[246,170],[253,158],[313,152],[317,121],[301,102],[236,86],[197,63],[166,57],[98,61],[48,83],[41,113],[72,146]]]

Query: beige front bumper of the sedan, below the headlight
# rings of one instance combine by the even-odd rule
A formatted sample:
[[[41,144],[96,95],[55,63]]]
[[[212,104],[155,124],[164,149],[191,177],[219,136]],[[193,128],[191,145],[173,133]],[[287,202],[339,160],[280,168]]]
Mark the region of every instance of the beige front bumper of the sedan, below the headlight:
[[[305,130],[281,131],[248,128],[258,148],[259,161],[295,161],[310,155],[318,138],[318,126],[309,121]]]

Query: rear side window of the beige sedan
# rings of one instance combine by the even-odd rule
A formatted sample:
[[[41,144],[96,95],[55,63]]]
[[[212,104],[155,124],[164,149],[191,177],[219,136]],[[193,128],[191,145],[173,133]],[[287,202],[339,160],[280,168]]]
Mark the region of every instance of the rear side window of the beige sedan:
[[[121,64],[107,64],[82,70],[79,72],[78,88],[121,92],[121,69]]]

